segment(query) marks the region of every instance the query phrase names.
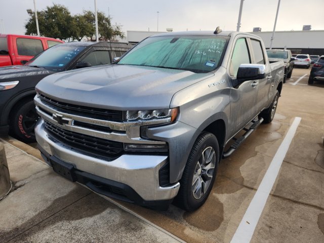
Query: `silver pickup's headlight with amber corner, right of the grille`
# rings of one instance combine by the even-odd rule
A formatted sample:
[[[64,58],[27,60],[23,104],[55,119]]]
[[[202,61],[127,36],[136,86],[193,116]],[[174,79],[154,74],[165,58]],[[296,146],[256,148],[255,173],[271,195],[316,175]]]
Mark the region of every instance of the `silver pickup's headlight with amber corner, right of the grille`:
[[[176,120],[179,113],[179,108],[173,109],[158,109],[158,110],[128,110],[126,112],[127,121],[136,120],[150,120],[150,119],[167,119],[170,118],[170,122]]]

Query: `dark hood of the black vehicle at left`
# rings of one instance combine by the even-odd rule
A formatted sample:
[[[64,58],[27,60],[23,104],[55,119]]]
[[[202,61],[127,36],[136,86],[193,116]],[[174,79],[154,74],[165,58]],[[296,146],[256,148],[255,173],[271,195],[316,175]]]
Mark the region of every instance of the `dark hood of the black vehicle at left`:
[[[54,72],[39,67],[30,67],[22,65],[0,67],[0,79],[19,78],[24,76],[44,75],[51,73]]]

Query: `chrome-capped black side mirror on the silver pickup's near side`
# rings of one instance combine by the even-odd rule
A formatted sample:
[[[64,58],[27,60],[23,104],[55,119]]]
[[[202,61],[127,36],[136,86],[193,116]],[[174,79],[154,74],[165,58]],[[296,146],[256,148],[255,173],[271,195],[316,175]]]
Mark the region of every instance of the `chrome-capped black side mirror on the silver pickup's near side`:
[[[265,77],[264,64],[241,64],[238,67],[236,79],[239,83],[247,80],[261,79]]]

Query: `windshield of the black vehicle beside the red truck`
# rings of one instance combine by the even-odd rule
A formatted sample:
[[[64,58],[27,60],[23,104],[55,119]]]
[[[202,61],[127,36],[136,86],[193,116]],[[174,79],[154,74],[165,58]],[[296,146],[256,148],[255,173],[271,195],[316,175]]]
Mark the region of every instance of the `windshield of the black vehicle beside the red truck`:
[[[45,67],[53,71],[61,71],[86,47],[54,46],[42,52],[26,63],[28,66]]]

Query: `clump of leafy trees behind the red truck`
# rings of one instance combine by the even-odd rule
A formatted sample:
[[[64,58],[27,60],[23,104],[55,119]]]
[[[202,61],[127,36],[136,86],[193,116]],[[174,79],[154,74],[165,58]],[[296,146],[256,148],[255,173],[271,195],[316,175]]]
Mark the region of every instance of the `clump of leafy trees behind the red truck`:
[[[96,40],[95,14],[91,11],[84,11],[83,14],[71,16],[69,10],[54,4],[46,10],[37,12],[39,33],[41,35],[62,40],[81,41],[87,38],[90,41]],[[34,13],[25,24],[26,34],[36,35],[36,23]],[[116,41],[117,36],[125,37],[120,25],[112,25],[110,17],[98,11],[98,32],[100,41]]]

